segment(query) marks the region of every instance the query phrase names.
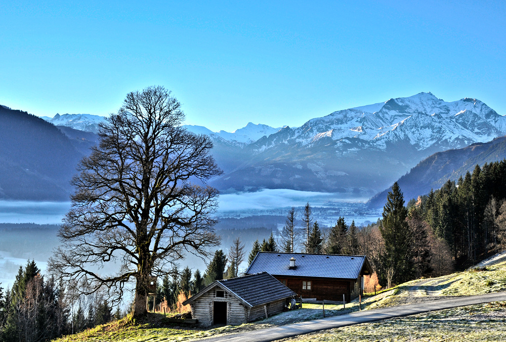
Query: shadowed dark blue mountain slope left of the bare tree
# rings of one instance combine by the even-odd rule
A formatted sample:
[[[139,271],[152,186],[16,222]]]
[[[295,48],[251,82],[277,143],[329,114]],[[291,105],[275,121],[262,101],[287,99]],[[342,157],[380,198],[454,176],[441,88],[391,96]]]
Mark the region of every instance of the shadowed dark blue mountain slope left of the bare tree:
[[[83,154],[56,126],[2,106],[0,141],[0,198],[69,200]]]

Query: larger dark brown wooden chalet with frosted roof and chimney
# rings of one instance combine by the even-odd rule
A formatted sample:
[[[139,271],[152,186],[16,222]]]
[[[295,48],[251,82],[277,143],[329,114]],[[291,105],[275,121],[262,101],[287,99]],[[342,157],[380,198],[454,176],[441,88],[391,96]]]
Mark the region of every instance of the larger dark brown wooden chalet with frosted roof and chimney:
[[[245,274],[267,272],[303,298],[350,302],[372,273],[365,255],[258,252]]]

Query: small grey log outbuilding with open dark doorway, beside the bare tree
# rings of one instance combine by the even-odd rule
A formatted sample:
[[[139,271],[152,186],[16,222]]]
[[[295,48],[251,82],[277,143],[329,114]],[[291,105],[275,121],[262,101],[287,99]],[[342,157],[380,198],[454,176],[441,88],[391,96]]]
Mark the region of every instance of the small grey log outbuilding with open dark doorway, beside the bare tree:
[[[188,298],[192,318],[199,324],[242,324],[284,310],[297,293],[267,272],[217,280]]]

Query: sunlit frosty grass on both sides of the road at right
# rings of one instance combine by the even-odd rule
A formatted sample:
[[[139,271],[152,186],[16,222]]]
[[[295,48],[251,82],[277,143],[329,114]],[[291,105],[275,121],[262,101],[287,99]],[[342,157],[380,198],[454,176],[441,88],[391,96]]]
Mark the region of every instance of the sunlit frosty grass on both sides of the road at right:
[[[365,300],[368,309],[398,305],[405,289],[422,283],[415,296],[473,295],[506,290],[506,262],[486,265],[486,271],[470,269],[426,281],[413,280]],[[376,323],[331,329],[297,338],[316,341],[506,341],[506,302],[474,305],[394,318]]]

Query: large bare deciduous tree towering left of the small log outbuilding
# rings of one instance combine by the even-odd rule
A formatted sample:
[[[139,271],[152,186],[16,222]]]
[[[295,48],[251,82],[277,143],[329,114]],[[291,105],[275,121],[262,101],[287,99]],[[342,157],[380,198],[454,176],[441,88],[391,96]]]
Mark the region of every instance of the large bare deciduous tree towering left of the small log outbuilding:
[[[59,231],[63,245],[50,260],[55,275],[87,278],[87,293],[106,288],[115,302],[134,279],[134,316],[146,312],[151,276],[166,274],[185,253],[207,255],[205,247],[219,241],[210,218],[218,191],[205,182],[221,170],[209,155],[212,143],[182,129],[183,119],[163,87],[126,96],[79,164]],[[115,271],[99,272],[105,264]]]

